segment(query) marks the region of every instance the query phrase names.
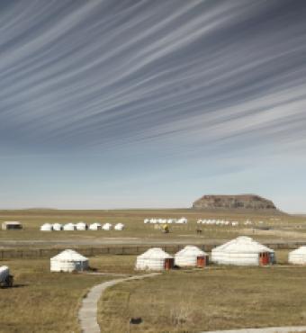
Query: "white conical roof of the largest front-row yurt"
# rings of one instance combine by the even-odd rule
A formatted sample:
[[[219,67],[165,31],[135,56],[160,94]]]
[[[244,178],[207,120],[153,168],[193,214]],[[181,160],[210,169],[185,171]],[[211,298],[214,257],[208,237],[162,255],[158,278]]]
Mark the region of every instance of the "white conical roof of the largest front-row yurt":
[[[265,247],[264,245],[258,243],[256,240],[240,236],[238,238],[229,240],[229,242],[221,245],[220,247],[215,247],[212,251],[220,251],[227,253],[260,253],[260,252],[274,252],[269,247]]]

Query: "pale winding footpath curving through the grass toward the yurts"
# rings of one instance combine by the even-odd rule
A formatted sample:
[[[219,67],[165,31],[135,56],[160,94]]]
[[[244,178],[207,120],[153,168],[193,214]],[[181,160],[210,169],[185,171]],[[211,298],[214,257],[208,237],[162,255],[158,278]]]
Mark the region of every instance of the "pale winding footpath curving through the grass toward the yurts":
[[[94,285],[94,287],[87,293],[83,299],[80,310],[78,311],[78,320],[81,325],[81,330],[84,333],[100,333],[100,327],[97,322],[97,305],[103,292],[115,284],[130,280],[139,280],[146,277],[153,277],[160,275],[160,273],[151,273],[147,275],[134,275],[121,279],[103,282],[103,284]]]

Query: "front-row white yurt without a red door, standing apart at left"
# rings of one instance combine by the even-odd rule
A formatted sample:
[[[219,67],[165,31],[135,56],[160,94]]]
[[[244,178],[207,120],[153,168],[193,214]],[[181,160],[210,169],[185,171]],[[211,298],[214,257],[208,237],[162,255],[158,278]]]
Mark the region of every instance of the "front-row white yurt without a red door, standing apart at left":
[[[75,272],[88,268],[88,259],[74,250],[67,249],[50,259],[51,272]]]

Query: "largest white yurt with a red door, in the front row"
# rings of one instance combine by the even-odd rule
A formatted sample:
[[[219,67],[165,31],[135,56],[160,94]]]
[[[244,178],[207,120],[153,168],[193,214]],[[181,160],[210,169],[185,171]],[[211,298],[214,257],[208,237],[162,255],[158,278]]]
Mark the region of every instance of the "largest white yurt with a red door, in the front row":
[[[221,265],[268,265],[275,263],[275,251],[250,237],[241,236],[212,248],[211,261]]]

